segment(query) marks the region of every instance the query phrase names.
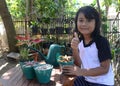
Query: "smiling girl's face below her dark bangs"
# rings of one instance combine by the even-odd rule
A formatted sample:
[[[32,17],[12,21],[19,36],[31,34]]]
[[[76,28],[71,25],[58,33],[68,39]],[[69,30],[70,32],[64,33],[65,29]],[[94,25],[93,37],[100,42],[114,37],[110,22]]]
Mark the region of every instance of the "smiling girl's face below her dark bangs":
[[[79,13],[77,19],[78,31],[83,34],[83,36],[90,36],[95,29],[95,19],[86,19],[83,13]]]

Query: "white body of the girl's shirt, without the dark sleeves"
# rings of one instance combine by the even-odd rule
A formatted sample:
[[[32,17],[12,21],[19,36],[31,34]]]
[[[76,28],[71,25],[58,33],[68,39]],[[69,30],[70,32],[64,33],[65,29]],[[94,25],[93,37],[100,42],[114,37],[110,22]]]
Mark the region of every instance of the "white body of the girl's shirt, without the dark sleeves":
[[[95,42],[85,47],[82,40],[78,45],[78,49],[79,49],[79,56],[82,61],[81,68],[91,69],[100,66],[100,61],[98,58],[98,49],[96,47]],[[114,85],[114,73],[112,71],[111,64],[109,67],[109,71],[106,74],[99,76],[85,76],[85,80],[92,83]]]

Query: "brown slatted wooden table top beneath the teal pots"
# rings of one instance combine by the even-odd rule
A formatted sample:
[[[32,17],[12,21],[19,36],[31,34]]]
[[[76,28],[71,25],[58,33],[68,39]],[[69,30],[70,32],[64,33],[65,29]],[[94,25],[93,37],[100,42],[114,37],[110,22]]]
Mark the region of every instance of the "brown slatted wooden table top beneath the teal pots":
[[[19,65],[5,72],[1,76],[0,82],[2,82],[3,86],[62,86],[60,84],[59,68],[52,70],[49,83],[41,84],[36,79],[27,80]]]

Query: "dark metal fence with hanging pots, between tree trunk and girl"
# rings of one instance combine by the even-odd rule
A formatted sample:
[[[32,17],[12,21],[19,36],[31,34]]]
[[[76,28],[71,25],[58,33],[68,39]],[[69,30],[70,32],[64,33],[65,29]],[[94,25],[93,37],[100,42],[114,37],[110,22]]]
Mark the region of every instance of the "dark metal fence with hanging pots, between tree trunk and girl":
[[[14,21],[16,33],[24,35],[29,31],[31,35],[41,34],[48,41],[57,42],[70,41],[70,37],[74,28],[74,18],[39,18],[37,26],[31,24],[33,21]]]

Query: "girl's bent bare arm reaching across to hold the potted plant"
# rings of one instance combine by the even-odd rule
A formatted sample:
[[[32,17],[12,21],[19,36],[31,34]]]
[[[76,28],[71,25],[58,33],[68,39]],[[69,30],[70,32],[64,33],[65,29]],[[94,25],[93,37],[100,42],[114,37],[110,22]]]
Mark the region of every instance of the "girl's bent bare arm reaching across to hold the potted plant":
[[[110,60],[105,60],[101,62],[100,67],[91,68],[91,69],[81,69],[78,66],[65,66],[63,68],[64,72],[67,75],[75,76],[98,76],[106,74],[109,70]]]

